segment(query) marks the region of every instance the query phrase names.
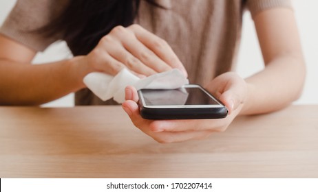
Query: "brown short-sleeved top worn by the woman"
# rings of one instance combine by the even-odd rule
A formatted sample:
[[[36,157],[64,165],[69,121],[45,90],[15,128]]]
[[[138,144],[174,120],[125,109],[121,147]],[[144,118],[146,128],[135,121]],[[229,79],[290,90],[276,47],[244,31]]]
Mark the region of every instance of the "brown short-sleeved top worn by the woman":
[[[25,32],[50,21],[65,7],[63,0],[24,0],[6,19],[0,32],[36,51],[43,51],[59,39],[43,38],[39,34]],[[240,44],[242,14],[247,8],[255,16],[262,10],[286,7],[289,0],[156,0],[167,9],[142,0],[136,23],[167,40],[195,84],[206,84],[216,75],[231,71]],[[45,10],[45,11],[43,11]],[[103,102],[87,89],[76,94],[76,104],[114,104]]]

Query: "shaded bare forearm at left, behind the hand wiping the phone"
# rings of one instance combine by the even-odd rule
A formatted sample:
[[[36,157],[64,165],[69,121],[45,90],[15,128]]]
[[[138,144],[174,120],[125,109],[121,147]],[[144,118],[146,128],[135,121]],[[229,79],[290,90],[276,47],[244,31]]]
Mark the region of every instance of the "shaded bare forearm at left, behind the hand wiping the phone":
[[[50,64],[0,60],[0,104],[39,105],[84,87],[80,58]]]

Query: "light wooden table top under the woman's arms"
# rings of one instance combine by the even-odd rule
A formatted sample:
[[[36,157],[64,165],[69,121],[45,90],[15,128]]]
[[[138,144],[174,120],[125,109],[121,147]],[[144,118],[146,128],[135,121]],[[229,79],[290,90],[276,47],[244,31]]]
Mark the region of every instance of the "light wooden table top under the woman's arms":
[[[203,141],[160,144],[120,106],[0,107],[1,178],[318,177],[318,106],[239,117]]]

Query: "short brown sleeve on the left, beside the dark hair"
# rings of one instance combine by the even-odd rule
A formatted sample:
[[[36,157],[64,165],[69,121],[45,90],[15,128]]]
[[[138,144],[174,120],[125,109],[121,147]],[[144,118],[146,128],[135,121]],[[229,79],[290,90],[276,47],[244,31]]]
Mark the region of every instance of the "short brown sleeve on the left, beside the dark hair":
[[[18,0],[0,27],[0,33],[35,51],[43,51],[58,40],[59,35],[48,38],[36,30],[61,11],[56,4],[59,5],[52,0]]]

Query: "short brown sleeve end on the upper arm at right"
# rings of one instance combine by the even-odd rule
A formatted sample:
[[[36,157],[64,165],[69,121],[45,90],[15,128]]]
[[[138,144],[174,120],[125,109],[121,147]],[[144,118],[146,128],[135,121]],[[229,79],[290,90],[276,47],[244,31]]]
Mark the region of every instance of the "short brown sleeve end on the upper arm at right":
[[[263,10],[271,8],[290,8],[292,5],[290,0],[247,0],[246,7],[251,12],[252,18]]]

